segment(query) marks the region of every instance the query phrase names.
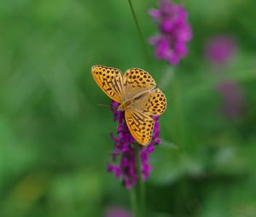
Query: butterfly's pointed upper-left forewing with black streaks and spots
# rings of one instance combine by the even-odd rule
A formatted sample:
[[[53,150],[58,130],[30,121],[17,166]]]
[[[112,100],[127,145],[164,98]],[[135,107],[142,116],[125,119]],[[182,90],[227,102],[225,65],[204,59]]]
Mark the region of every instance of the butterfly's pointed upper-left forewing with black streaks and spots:
[[[91,74],[98,86],[112,100],[121,103],[124,100],[124,85],[121,71],[107,66],[92,66]]]

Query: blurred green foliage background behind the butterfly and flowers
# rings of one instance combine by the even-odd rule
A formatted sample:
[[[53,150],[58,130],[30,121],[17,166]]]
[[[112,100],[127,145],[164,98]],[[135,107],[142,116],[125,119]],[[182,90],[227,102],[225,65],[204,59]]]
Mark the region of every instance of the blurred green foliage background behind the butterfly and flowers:
[[[178,2],[178,1],[176,1]],[[0,2],[0,216],[104,216],[130,209],[129,191],[106,171],[115,131],[110,100],[90,76],[95,64],[149,71],[166,93],[162,145],[151,156],[148,216],[256,216],[256,2],[185,0],[193,40],[177,67],[150,64],[128,1]],[[133,1],[145,37],[148,9]],[[208,38],[236,38],[217,75]],[[216,69],[215,69],[216,70]],[[244,109],[223,114],[216,86],[239,83]],[[116,217],[116,216],[115,216]]]

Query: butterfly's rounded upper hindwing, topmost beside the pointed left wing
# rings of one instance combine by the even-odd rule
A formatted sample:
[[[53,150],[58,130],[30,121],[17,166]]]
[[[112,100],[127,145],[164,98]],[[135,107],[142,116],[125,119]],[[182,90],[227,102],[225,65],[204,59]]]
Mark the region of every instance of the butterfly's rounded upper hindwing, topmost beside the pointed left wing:
[[[126,100],[154,89],[156,85],[153,77],[147,71],[138,68],[131,68],[125,71],[123,83]]]

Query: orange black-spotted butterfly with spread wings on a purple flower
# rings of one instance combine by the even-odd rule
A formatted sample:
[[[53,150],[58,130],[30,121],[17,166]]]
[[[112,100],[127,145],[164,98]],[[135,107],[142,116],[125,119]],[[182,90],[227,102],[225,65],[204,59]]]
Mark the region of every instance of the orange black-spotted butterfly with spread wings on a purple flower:
[[[97,85],[125,111],[125,122],[131,135],[142,146],[148,146],[154,129],[154,116],[166,110],[166,96],[155,89],[156,83],[147,71],[131,68],[122,72],[107,66],[92,66]]]

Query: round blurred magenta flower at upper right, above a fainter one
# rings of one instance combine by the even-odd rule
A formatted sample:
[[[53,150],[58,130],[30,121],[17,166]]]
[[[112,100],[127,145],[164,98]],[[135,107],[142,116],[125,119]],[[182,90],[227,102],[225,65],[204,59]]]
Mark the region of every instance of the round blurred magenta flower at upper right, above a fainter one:
[[[210,38],[205,45],[207,60],[212,64],[225,65],[236,54],[236,41],[229,36]]]

